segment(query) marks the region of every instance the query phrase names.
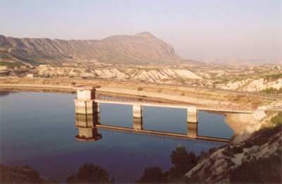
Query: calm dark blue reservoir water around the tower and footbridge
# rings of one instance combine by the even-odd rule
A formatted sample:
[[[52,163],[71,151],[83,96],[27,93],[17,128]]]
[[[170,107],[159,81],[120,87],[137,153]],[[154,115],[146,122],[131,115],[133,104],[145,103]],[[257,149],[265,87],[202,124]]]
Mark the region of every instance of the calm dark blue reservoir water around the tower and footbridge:
[[[141,137],[99,130],[102,139],[75,141],[76,94],[10,92],[0,96],[1,164],[30,165],[43,176],[60,183],[92,162],[105,168],[116,183],[134,183],[145,167],[160,166],[168,171],[171,151],[183,145],[200,154],[214,145],[181,140]],[[187,133],[187,111],[144,107],[144,130]],[[199,135],[230,138],[233,130],[225,117],[199,112]],[[133,128],[129,105],[100,104],[102,125]]]

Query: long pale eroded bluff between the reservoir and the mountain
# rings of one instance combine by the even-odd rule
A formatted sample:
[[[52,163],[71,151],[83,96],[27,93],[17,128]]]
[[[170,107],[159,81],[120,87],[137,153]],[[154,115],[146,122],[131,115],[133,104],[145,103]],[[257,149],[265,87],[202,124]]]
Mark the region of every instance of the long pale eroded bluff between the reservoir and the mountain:
[[[97,78],[116,78],[116,79],[134,79],[145,80],[147,82],[167,82],[174,80],[197,79],[202,80],[199,75],[192,73],[190,70],[178,70],[171,68],[104,68],[104,69],[87,69],[87,68],[61,68],[49,65],[41,65],[30,70],[30,73],[39,75],[65,75],[65,76],[82,76]]]

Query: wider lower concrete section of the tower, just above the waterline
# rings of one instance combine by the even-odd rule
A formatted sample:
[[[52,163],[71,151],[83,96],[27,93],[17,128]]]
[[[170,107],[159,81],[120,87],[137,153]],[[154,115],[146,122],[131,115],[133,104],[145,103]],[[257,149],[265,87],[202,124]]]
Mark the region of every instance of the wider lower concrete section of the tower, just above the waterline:
[[[99,113],[99,103],[92,100],[75,99],[76,114],[94,114]]]

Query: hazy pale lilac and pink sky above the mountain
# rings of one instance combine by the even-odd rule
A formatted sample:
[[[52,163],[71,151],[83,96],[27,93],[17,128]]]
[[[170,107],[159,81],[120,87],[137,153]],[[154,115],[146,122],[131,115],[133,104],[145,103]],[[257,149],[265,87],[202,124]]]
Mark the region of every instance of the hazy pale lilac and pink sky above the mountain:
[[[0,34],[103,39],[151,32],[188,59],[281,59],[281,0],[4,1]]]

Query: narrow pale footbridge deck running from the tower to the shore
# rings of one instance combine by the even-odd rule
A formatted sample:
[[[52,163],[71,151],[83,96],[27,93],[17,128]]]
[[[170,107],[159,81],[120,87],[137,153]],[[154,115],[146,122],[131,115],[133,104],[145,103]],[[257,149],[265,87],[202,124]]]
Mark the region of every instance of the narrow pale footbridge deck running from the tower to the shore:
[[[195,104],[175,104],[173,102],[159,102],[154,100],[135,100],[135,99],[123,99],[123,98],[116,98],[116,97],[102,97],[97,96],[94,99],[94,102],[97,103],[106,103],[106,104],[139,104],[141,106],[158,106],[158,107],[169,107],[169,108],[178,108],[178,109],[187,109],[188,106],[195,106],[197,110],[205,110],[205,111],[221,111],[221,112],[233,112],[233,113],[247,113],[253,114],[257,109],[256,106],[233,106],[233,105],[219,105],[219,106],[212,106],[211,104],[204,105],[195,105]]]

